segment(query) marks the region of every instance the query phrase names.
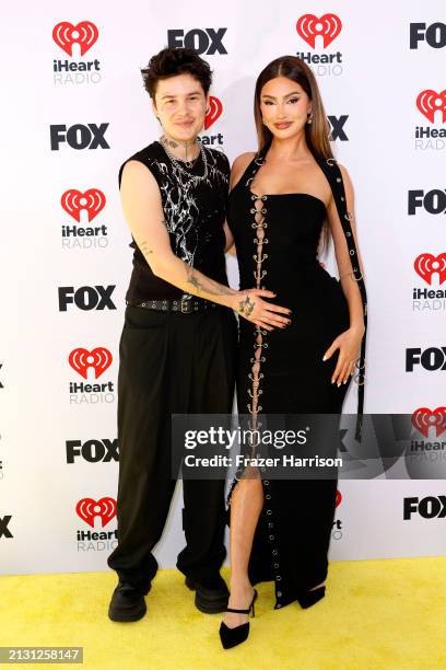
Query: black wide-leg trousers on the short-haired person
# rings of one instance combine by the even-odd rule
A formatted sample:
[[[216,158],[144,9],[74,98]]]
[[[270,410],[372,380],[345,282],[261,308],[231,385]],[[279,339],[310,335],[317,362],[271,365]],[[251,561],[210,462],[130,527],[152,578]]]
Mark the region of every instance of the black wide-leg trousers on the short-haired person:
[[[152,554],[168,515],[172,414],[231,414],[237,326],[214,308],[192,314],[127,305],[119,344],[118,546],[108,565],[145,591],[156,574]],[[224,481],[184,480],[186,546],[178,569],[199,580],[225,558]]]

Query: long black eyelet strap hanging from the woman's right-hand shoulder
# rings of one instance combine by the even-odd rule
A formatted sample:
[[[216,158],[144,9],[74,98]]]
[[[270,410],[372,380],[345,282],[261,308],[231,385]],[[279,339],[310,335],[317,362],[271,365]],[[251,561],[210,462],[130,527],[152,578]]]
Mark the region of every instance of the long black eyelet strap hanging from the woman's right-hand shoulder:
[[[334,159],[320,159],[315,155],[315,160],[318,163],[319,168],[324,172],[327,177],[328,183],[331,187],[331,193],[333,194],[336,207],[338,210],[339,219],[342,224],[342,230],[345,235],[347,246],[349,249],[350,258],[352,262],[353,268],[353,279],[357,281],[357,286],[361,292],[361,298],[364,307],[364,336],[361,343],[361,354],[359,361],[356,363],[357,374],[355,377],[355,381],[357,383],[357,419],[356,419],[356,431],[355,438],[356,440],[361,440],[362,435],[362,421],[363,421],[363,413],[364,413],[364,382],[365,382],[365,340],[367,333],[367,293],[365,291],[365,282],[361,273],[360,259],[357,256],[356,245],[354,243],[354,236],[352,227],[350,224],[350,220],[352,219],[352,215],[349,213],[347,209],[347,199],[345,199],[345,189],[342,180],[341,170]]]

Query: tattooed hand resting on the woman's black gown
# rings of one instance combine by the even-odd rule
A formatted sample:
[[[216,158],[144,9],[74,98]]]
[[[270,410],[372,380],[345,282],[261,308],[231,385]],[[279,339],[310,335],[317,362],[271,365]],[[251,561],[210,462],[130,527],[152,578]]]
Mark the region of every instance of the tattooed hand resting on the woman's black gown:
[[[274,327],[284,328],[291,323],[291,310],[262,300],[274,297],[273,291],[266,289],[245,289],[233,296],[231,307],[244,319],[266,331],[273,331]]]

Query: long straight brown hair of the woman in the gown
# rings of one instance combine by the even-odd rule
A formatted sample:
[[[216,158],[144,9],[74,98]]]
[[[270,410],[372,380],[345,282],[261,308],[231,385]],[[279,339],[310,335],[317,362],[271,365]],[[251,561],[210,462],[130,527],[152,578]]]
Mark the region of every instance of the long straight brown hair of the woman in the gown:
[[[316,77],[310,68],[297,56],[281,56],[272,60],[260,72],[256,81],[254,94],[254,118],[256,122],[258,154],[267,152],[272,142],[272,132],[262,123],[260,111],[260,93],[265,84],[275,77],[286,77],[298,83],[312,101],[312,124],[305,124],[305,139],[314,157],[320,159],[333,158],[329,141],[330,125],[328,123]],[[322,250],[329,244],[328,226],[325,223],[322,232]]]

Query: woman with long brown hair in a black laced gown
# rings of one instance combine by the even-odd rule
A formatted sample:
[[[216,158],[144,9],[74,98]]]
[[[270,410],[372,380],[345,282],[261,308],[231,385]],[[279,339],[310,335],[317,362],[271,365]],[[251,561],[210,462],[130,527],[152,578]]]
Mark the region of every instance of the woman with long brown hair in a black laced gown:
[[[355,376],[363,409],[366,293],[353,220],[353,188],[333,159],[316,79],[300,58],[283,56],[260,73],[255,91],[259,148],[233,165],[228,224],[240,289],[272,290],[292,310],[272,328],[240,320],[238,412],[261,415],[340,414]],[[318,262],[334,243],[339,280]],[[240,312],[249,310],[249,298]],[[361,355],[360,355],[361,350]],[[259,444],[249,446],[256,455]],[[255,463],[255,461],[253,461]],[[220,636],[244,642],[257,592],[274,581],[275,609],[302,608],[325,596],[337,477],[266,478],[246,463],[230,493],[231,598]]]

